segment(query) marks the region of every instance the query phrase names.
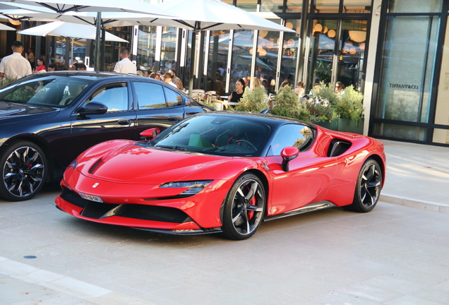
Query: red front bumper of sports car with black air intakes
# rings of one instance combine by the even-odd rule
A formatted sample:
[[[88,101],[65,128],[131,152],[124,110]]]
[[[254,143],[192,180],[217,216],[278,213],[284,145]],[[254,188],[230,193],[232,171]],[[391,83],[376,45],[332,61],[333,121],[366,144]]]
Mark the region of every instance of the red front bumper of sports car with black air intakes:
[[[176,198],[176,190],[164,189],[167,193],[162,194],[145,184],[100,181],[102,188],[92,189],[98,180],[77,176],[76,181],[70,179],[76,189],[66,179],[61,181],[63,192],[56,205],[64,212],[92,222],[172,234],[219,232],[220,208],[232,186],[232,181],[214,181],[194,196]],[[83,199],[79,193],[99,196],[104,203]]]

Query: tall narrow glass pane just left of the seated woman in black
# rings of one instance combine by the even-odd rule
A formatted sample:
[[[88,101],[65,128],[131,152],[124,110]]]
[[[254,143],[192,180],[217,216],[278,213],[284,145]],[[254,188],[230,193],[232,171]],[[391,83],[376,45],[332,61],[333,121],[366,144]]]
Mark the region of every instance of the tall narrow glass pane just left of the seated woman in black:
[[[228,49],[229,30],[211,31],[206,91],[213,90],[218,95],[224,95],[226,91]]]

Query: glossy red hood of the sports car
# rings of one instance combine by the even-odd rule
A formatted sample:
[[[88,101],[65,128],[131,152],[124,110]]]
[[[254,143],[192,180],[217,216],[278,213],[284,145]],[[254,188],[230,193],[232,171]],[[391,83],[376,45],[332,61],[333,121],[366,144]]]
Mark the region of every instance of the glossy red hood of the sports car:
[[[232,160],[232,157],[167,151],[127,143],[119,148],[107,150],[105,153],[99,154],[93,150],[92,153],[78,160],[77,169],[87,177],[106,181],[162,184],[169,181],[181,181],[183,177],[191,177],[193,172],[227,160]],[[219,173],[210,172],[208,179],[217,179],[219,175]]]

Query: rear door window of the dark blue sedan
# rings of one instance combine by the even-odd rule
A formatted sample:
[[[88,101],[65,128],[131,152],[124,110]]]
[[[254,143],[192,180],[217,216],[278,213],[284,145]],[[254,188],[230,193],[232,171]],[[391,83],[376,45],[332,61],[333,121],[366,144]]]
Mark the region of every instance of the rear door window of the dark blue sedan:
[[[162,85],[154,83],[134,82],[139,109],[164,108],[164,90]]]

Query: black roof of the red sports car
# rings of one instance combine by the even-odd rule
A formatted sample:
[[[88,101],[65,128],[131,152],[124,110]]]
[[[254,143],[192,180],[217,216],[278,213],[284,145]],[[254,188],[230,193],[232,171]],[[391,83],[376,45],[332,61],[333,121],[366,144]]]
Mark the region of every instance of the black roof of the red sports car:
[[[268,126],[281,126],[288,123],[294,123],[294,124],[301,124],[309,126],[313,129],[316,129],[316,126],[306,122],[301,121],[299,119],[292,119],[285,116],[276,116],[273,114],[262,114],[262,113],[256,113],[256,112],[237,112],[237,111],[218,111],[218,112],[201,112],[199,114],[196,114],[197,116],[200,115],[219,115],[219,116],[234,116],[234,117],[244,117],[247,119],[252,119],[254,121],[260,121],[262,123],[267,124]]]

